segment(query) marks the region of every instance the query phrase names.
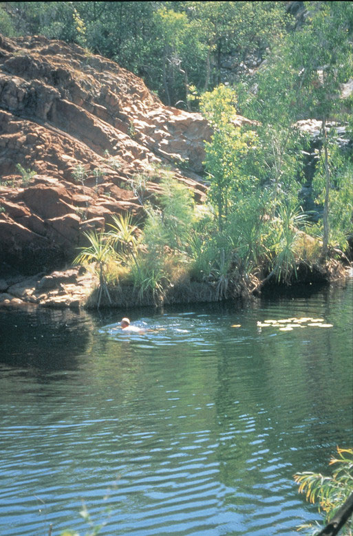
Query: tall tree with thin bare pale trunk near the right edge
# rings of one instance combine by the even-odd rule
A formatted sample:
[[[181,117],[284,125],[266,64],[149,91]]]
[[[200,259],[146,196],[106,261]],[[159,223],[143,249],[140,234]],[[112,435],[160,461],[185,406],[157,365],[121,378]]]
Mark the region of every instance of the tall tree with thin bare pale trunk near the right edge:
[[[321,121],[323,153],[323,248],[328,255],[330,236],[330,189],[332,160],[329,137],[336,120],[343,120],[345,106],[342,85],[353,76],[353,5],[350,2],[307,3],[308,23],[295,32],[290,47],[290,63],[300,78],[297,106],[299,118]],[[288,58],[289,59],[289,58]]]

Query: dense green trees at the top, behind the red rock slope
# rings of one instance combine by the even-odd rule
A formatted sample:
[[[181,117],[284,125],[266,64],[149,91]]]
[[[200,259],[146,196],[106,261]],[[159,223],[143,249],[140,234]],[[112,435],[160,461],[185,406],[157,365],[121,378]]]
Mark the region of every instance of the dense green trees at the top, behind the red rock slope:
[[[275,1],[50,1],[7,2],[2,24],[7,35],[43,34],[114,59],[164,103],[189,109],[190,86],[220,83],[222,54],[237,65],[261,56],[286,19]]]

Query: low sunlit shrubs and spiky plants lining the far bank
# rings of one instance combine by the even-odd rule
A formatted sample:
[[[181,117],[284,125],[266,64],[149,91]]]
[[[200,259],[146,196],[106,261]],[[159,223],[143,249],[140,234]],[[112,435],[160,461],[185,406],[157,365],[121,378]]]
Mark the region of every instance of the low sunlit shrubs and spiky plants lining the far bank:
[[[322,240],[294,201],[274,198],[254,179],[252,188],[247,181],[239,188],[211,184],[209,202],[200,206],[173,171],[159,173],[161,193],[156,203],[143,202],[143,222],[119,215],[105,233],[87,233],[75,262],[99,275],[89,305],[119,303],[126,288],[129,300],[159,305],[173,294],[186,301],[249,297],[267,281],[328,275],[335,261],[319,263]]]

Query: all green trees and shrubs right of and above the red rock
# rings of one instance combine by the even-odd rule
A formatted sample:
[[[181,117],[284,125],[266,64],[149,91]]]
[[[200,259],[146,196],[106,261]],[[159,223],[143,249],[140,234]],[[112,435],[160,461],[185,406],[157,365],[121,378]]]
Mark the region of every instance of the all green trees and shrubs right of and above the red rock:
[[[158,198],[145,195],[143,175],[131,180],[143,221],[117,216],[104,233],[87,234],[76,263],[96,266],[98,306],[114,303],[123,286],[141,303],[173,292],[192,299],[192,283],[200,299],[205,285],[211,299],[245,296],[264,283],[326,277],[349,257],[353,7],[302,7],[297,18],[284,2],[1,7],[4,33],[43,33],[82,45],[87,57],[113,58],[164,103],[200,111],[213,128],[204,206],[160,167]],[[237,114],[247,118],[242,126]]]

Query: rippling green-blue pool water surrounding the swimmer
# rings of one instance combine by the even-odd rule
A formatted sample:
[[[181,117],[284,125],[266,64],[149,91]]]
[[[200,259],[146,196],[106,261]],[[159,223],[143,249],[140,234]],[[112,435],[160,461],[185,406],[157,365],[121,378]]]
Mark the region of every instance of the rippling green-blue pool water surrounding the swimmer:
[[[112,536],[320,519],[292,475],[352,444],[352,283],[245,308],[0,310],[1,536],[82,536],[81,500]],[[113,330],[126,314],[158,331]],[[257,327],[288,317],[333,327]]]

